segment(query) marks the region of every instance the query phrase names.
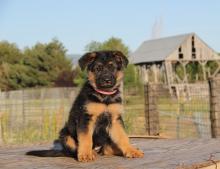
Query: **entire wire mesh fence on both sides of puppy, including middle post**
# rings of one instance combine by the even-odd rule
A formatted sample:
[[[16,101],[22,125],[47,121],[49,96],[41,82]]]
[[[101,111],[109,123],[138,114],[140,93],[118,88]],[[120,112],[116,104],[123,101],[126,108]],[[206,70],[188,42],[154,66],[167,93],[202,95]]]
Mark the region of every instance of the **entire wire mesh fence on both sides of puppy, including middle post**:
[[[42,88],[0,92],[0,143],[55,139],[78,91],[78,88]],[[211,137],[210,116],[219,99],[215,98],[211,104],[210,98],[208,83],[126,88],[123,91],[126,132],[168,138]],[[212,116],[216,118],[215,114]]]

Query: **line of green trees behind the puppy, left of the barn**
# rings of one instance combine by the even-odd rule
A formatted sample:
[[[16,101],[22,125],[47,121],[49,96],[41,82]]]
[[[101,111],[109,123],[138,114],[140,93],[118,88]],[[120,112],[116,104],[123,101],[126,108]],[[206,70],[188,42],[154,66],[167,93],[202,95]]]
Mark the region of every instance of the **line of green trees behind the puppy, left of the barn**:
[[[85,51],[120,50],[128,55],[129,48],[119,38],[104,42],[92,41]],[[135,68],[129,65],[125,84],[135,84]],[[133,75],[132,75],[133,73]],[[21,50],[15,43],[0,41],[0,90],[17,90],[32,87],[63,87],[82,85],[85,72],[73,68],[71,58],[62,42],[52,39],[49,43],[36,43]]]

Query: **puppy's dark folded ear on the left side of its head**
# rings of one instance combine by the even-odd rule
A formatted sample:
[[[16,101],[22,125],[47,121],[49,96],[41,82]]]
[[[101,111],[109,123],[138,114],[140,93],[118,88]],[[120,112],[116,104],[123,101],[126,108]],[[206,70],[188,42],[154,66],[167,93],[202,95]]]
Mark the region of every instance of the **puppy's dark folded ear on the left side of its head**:
[[[89,52],[83,55],[79,59],[79,66],[82,70],[85,70],[85,68],[92,63],[96,58],[96,53],[95,52]]]

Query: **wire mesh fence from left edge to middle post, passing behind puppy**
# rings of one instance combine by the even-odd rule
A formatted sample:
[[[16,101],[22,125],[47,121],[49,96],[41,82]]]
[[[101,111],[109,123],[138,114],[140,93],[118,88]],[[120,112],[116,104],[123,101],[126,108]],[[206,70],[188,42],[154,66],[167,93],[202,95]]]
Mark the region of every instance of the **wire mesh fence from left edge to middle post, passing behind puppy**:
[[[0,92],[0,143],[57,138],[78,91],[78,88],[41,88]],[[124,104],[126,131],[145,134],[143,86],[126,89]]]

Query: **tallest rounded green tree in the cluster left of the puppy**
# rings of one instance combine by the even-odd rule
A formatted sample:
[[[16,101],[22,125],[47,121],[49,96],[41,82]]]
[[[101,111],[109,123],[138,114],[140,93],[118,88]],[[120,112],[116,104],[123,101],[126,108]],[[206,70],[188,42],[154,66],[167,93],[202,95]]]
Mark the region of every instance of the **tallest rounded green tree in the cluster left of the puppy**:
[[[36,70],[39,85],[53,86],[64,72],[71,72],[72,64],[66,49],[56,39],[48,44],[37,43],[24,51],[24,65]]]

